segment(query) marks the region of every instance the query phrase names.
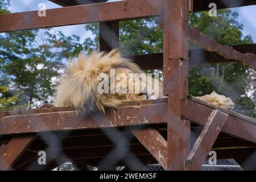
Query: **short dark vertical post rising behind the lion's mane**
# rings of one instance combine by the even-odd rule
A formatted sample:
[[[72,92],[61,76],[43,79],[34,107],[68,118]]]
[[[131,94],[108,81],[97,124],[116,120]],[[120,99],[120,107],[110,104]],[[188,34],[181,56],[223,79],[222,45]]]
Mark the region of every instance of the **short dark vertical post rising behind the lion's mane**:
[[[100,51],[111,51],[119,47],[119,23],[100,23]]]

